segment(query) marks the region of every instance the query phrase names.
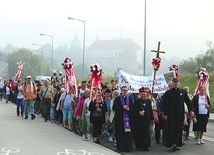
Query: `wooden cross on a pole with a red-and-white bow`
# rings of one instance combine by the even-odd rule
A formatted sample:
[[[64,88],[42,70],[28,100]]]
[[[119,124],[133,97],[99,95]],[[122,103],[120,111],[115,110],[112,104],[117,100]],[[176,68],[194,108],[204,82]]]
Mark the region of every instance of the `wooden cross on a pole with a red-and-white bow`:
[[[152,83],[152,94],[153,94],[154,85],[155,85],[155,81],[156,81],[156,72],[159,70],[160,64],[161,64],[161,58],[159,57],[159,55],[160,55],[160,53],[165,53],[164,51],[160,51],[160,41],[158,42],[157,50],[151,50],[151,52],[157,53],[156,54],[156,58],[152,59],[152,66],[153,66],[153,69],[154,69],[153,83]]]

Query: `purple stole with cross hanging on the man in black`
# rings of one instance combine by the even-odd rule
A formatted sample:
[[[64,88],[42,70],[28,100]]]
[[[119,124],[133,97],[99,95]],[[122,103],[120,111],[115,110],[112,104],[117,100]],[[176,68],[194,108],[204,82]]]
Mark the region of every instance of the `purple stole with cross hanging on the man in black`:
[[[124,96],[120,95],[120,101],[122,103],[122,106],[127,105],[129,107],[129,98],[126,96],[126,101],[124,99]],[[129,124],[129,113],[126,110],[123,110],[123,125],[125,132],[131,132],[131,127]]]

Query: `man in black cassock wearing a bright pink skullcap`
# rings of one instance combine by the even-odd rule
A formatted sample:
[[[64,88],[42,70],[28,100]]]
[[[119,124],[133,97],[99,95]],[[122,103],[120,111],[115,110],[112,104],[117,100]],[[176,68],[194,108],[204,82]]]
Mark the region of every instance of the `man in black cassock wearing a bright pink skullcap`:
[[[148,99],[148,89],[139,89],[140,98],[135,100],[133,106],[132,134],[136,149],[149,151],[151,142],[150,123],[153,122],[151,101]]]

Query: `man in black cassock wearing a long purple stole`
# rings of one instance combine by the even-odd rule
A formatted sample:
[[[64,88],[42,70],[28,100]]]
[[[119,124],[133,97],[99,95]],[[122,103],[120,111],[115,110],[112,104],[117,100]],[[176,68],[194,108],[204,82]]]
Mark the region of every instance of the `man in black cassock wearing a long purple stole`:
[[[116,97],[113,103],[113,110],[115,111],[114,126],[115,137],[117,143],[117,150],[129,152],[133,149],[132,146],[132,133],[130,126],[130,111],[131,99],[128,95],[127,86],[122,86],[121,95]]]

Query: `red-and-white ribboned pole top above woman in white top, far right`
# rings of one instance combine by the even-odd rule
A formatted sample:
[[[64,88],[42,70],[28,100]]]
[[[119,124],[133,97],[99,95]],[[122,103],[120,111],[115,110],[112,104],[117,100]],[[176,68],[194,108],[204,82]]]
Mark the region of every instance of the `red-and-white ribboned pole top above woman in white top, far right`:
[[[205,86],[207,95],[209,96],[209,74],[208,74],[206,68],[199,68],[196,75],[198,78],[198,83],[195,88],[194,95],[197,95],[199,93],[200,86]]]

